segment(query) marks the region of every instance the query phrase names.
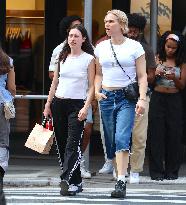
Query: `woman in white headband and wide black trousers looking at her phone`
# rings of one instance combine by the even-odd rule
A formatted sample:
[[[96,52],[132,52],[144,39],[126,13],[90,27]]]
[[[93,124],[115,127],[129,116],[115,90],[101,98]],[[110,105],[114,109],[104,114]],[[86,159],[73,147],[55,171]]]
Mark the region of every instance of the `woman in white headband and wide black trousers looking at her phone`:
[[[149,106],[149,169],[152,180],[178,178],[181,164],[182,99],[186,64],[184,38],[165,32],[159,41],[156,81]]]

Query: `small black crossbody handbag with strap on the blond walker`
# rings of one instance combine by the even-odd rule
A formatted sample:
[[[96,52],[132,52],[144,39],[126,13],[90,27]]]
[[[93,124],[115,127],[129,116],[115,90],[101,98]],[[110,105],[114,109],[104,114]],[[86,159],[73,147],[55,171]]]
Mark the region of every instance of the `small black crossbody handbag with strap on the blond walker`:
[[[114,55],[114,58],[117,62],[117,64],[119,65],[119,67],[123,70],[123,72],[125,73],[125,75],[127,75],[127,73],[125,72],[125,70],[123,69],[123,67],[121,66],[120,62],[118,61],[117,57],[116,57],[116,53],[114,51],[114,48],[113,48],[113,45],[112,45],[112,42],[110,40],[110,45],[111,45],[111,48],[112,48],[112,52],[113,52],[113,55]],[[128,100],[138,100],[138,97],[139,97],[139,86],[138,86],[138,82],[137,81],[132,81],[130,76],[127,75],[127,77],[129,78],[129,80],[131,81],[131,83],[124,87],[124,95],[125,97],[128,99]]]

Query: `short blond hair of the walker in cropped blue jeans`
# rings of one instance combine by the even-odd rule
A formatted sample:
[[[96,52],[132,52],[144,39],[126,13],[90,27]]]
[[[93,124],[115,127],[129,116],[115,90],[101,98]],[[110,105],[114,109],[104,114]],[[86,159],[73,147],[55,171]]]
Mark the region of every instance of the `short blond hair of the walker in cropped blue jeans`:
[[[128,33],[128,30],[129,30],[128,29],[128,18],[125,12],[117,10],[117,9],[113,9],[113,10],[107,11],[107,15],[108,14],[113,14],[118,18],[118,22],[122,26],[123,34]]]

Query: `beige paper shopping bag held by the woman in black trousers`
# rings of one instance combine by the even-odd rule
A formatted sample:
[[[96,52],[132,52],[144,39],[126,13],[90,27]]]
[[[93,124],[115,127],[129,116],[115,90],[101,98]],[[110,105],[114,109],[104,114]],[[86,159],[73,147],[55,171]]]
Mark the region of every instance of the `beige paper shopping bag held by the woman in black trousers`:
[[[53,131],[36,123],[25,146],[41,154],[49,154],[53,144]]]

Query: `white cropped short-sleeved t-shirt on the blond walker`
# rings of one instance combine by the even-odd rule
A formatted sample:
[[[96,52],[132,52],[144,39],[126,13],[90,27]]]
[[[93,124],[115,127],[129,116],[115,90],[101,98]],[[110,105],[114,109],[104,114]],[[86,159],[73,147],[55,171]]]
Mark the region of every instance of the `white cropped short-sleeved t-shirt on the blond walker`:
[[[142,45],[132,39],[126,38],[125,42],[120,45],[113,45],[117,59],[126,74],[132,81],[136,78],[136,59],[145,52]],[[102,67],[103,81],[102,84],[107,87],[126,87],[131,83],[127,75],[119,67],[114,58],[110,39],[100,42],[95,50],[95,56],[99,58]]]

